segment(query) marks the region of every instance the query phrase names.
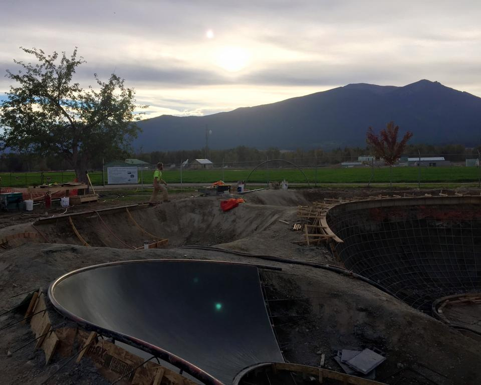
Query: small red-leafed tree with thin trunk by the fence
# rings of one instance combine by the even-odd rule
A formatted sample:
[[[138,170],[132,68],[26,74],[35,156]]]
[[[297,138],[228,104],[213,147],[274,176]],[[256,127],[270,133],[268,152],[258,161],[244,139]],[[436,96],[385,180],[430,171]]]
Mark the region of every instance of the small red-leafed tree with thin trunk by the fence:
[[[394,122],[391,121],[387,123],[385,129],[379,132],[379,135],[374,133],[372,127],[369,127],[366,134],[366,142],[373,148],[374,155],[383,158],[389,165],[390,186],[392,186],[392,165],[397,161],[404,151],[407,141],[412,137],[412,132],[407,131],[401,141],[398,142],[398,132],[399,126],[394,126]]]

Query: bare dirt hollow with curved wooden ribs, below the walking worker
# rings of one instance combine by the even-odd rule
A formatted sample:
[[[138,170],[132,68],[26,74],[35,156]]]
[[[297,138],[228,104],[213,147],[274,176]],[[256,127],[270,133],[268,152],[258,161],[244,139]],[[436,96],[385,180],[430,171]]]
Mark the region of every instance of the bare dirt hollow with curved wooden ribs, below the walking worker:
[[[184,199],[129,212],[91,213],[71,217],[90,246],[135,248],[144,241],[168,238],[169,245],[215,245],[259,234],[295,209],[285,206],[240,204],[222,212],[220,199]],[[38,229],[50,243],[83,244],[68,218],[41,223]]]

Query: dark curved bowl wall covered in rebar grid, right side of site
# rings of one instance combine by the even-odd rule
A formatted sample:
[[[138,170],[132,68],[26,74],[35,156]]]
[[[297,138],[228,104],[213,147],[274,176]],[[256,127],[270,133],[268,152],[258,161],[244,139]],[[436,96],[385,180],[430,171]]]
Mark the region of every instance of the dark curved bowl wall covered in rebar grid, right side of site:
[[[336,250],[347,269],[430,312],[439,297],[481,292],[481,205],[455,201],[344,204],[331,209],[327,221],[344,241]]]

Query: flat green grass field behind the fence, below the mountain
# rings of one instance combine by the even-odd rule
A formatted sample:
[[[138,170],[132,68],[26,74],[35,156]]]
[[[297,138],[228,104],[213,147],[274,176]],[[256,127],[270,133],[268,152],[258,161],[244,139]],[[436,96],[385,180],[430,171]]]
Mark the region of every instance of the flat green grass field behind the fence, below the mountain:
[[[210,169],[210,170],[182,170],[184,183],[212,183],[217,180],[224,182],[236,182],[246,180],[251,170],[249,169]],[[305,168],[303,169],[310,183],[368,183],[371,179],[372,170],[366,168]],[[393,183],[417,183],[420,172],[421,183],[465,183],[477,182],[479,178],[478,167],[394,167],[392,169]],[[163,178],[167,183],[180,182],[180,170],[164,170]],[[102,172],[92,171],[89,173],[94,185],[102,184]],[[0,173],[3,187],[26,187],[42,183],[40,172]],[[144,184],[152,182],[153,171],[144,170],[139,172]],[[74,172],[56,171],[44,172],[44,183],[68,182],[75,178]],[[107,183],[107,174],[104,175]],[[252,173],[249,182],[267,183],[268,181],[280,181],[286,179],[289,183],[305,183],[306,178],[298,169],[275,168],[261,169]],[[375,168],[372,174],[372,183],[389,183],[389,168]]]

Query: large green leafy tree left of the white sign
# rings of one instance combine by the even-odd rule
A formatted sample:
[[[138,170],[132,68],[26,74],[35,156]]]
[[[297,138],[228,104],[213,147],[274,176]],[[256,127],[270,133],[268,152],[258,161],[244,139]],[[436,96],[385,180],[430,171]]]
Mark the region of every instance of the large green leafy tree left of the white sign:
[[[7,70],[16,84],[0,105],[0,145],[17,151],[60,156],[85,180],[88,163],[129,149],[139,128],[140,114],[135,91],[112,74],[107,82],[94,74],[95,86],[81,88],[74,74],[81,64],[77,49],[70,57],[62,52],[45,54],[41,49],[25,49],[37,64],[14,60],[17,73]]]

